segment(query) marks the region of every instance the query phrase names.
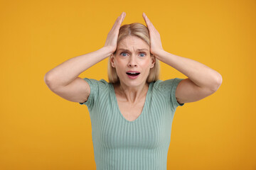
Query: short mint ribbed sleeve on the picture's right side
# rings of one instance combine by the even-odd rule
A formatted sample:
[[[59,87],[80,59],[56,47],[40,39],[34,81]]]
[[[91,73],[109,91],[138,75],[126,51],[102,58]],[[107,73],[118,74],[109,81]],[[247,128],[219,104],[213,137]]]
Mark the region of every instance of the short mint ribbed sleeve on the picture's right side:
[[[183,106],[184,103],[178,103],[176,99],[176,88],[178,86],[178,83],[181,82],[180,78],[175,78],[175,79],[168,79],[165,81],[159,81],[158,88],[159,90],[169,98],[171,101],[171,104],[174,108],[177,108],[178,106]]]

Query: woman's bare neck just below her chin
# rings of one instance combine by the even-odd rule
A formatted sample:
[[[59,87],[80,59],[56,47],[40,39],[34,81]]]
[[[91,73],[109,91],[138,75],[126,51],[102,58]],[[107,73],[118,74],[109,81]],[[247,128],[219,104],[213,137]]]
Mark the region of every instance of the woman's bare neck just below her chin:
[[[145,83],[140,86],[127,86],[125,84],[117,84],[116,92],[122,98],[122,100],[129,103],[137,103],[146,96],[149,89],[149,84]]]

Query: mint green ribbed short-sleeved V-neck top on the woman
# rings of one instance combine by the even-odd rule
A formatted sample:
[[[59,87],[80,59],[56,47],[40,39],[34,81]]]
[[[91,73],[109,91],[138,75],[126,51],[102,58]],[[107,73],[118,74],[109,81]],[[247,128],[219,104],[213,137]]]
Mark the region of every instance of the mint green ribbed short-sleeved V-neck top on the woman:
[[[141,115],[129,121],[119,111],[113,84],[84,78],[90,85],[90,113],[97,170],[166,170],[171,124],[178,106],[179,78],[149,84]]]

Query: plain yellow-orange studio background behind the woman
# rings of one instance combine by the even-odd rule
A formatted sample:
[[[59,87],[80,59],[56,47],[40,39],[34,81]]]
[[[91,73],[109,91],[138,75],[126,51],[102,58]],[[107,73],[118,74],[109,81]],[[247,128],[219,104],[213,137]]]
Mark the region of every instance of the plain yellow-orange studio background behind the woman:
[[[50,69],[100,49],[116,18],[144,23],[164,50],[215,69],[220,89],[178,107],[168,169],[256,169],[256,1],[0,1],[0,169],[96,169],[85,105],[54,94]],[[107,59],[80,74],[107,80]],[[161,63],[161,79],[187,78]]]

